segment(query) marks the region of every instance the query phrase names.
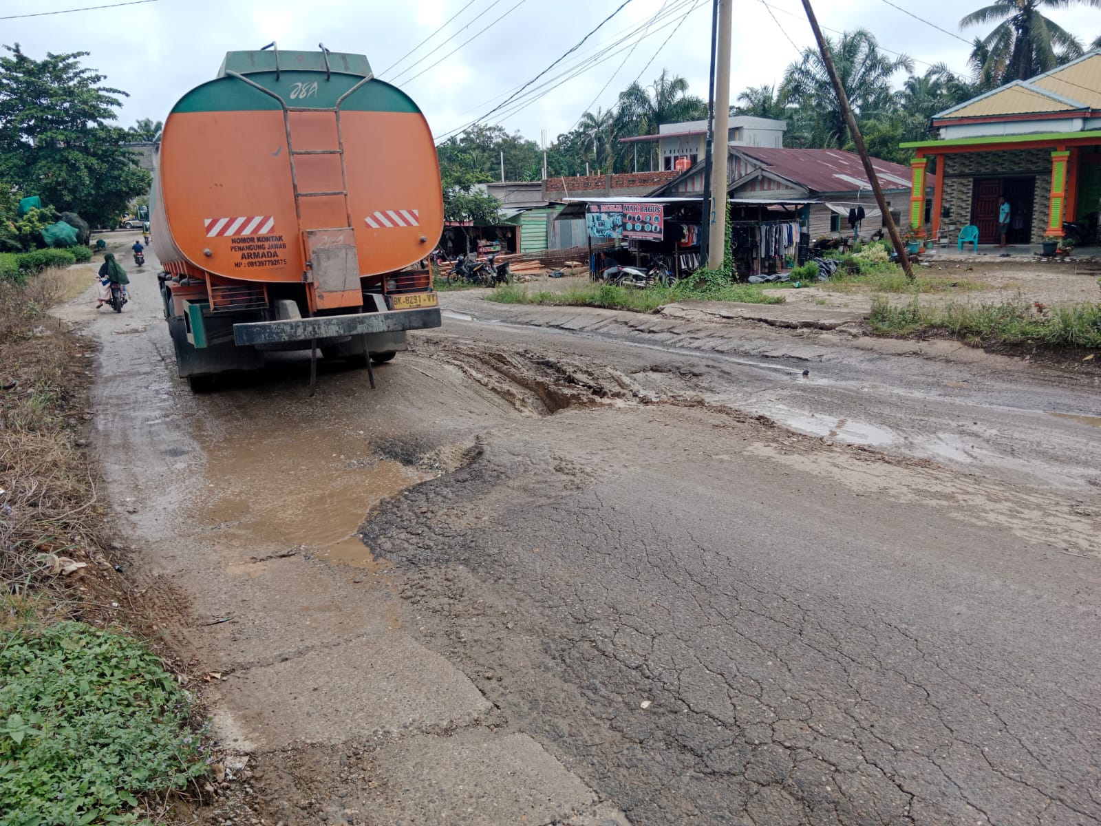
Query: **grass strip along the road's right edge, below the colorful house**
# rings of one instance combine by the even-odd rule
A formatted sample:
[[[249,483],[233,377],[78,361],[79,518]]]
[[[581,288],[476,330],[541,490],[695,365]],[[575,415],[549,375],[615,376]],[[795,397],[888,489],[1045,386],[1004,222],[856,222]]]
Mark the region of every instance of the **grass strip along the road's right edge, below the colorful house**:
[[[977,346],[1033,346],[1101,350],[1101,304],[1045,307],[1024,298],[939,307],[915,295],[905,304],[872,298],[872,332],[881,336],[941,333]]]

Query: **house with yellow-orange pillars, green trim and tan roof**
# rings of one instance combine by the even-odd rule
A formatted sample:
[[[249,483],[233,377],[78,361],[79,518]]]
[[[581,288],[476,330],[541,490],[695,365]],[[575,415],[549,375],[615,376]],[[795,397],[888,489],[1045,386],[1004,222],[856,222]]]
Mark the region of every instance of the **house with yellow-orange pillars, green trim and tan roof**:
[[[955,238],[967,225],[996,243],[999,198],[1010,243],[1062,236],[1064,221],[1101,202],[1101,51],[1015,80],[933,117],[940,138],[903,143],[911,163],[908,225]],[[926,187],[933,185],[931,203]]]

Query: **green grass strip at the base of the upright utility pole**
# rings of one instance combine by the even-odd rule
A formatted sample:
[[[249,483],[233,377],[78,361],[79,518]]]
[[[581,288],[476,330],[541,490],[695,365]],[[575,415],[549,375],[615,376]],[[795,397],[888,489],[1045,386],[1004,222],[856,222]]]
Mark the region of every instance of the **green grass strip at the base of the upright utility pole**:
[[[729,301],[748,304],[783,304],[784,296],[765,293],[757,284],[728,284],[713,290],[694,290],[686,282],[672,287],[650,286],[631,290],[611,284],[584,284],[567,290],[530,290],[514,284],[499,286],[486,301],[499,304],[543,304],[548,306],[606,307],[652,313],[677,301]]]

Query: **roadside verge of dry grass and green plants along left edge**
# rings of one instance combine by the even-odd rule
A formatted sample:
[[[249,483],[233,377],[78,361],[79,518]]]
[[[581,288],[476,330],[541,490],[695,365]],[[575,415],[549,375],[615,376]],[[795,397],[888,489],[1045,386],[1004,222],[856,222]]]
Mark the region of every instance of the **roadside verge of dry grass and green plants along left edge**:
[[[89,281],[57,269],[0,280],[4,826],[160,819],[166,795],[206,772],[186,696],[109,607],[126,586],[80,447],[90,354],[47,315]]]

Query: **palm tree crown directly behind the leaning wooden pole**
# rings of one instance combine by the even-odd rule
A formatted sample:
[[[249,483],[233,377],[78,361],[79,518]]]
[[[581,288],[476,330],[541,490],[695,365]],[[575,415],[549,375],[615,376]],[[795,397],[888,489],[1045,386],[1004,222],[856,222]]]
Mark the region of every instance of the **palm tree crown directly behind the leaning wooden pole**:
[[[827,37],[826,43],[853,113],[870,118],[896,106],[891,77],[901,69],[913,72],[913,59],[906,55],[889,57],[864,29],[844,32],[837,40]],[[805,135],[799,140],[804,145],[840,149],[848,142],[844,113],[817,48],[804,50],[803,57],[787,67],[781,97],[796,109],[795,131]]]

